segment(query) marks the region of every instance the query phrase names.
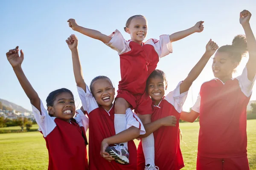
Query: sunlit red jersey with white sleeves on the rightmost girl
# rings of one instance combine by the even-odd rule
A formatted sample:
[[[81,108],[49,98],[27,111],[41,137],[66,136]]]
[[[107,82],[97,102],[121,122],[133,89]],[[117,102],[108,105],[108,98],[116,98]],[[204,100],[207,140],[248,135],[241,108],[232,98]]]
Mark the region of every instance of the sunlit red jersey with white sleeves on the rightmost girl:
[[[247,156],[246,108],[253,83],[247,68],[223,83],[212,79],[201,86],[192,110],[200,114],[198,155],[212,158]]]

